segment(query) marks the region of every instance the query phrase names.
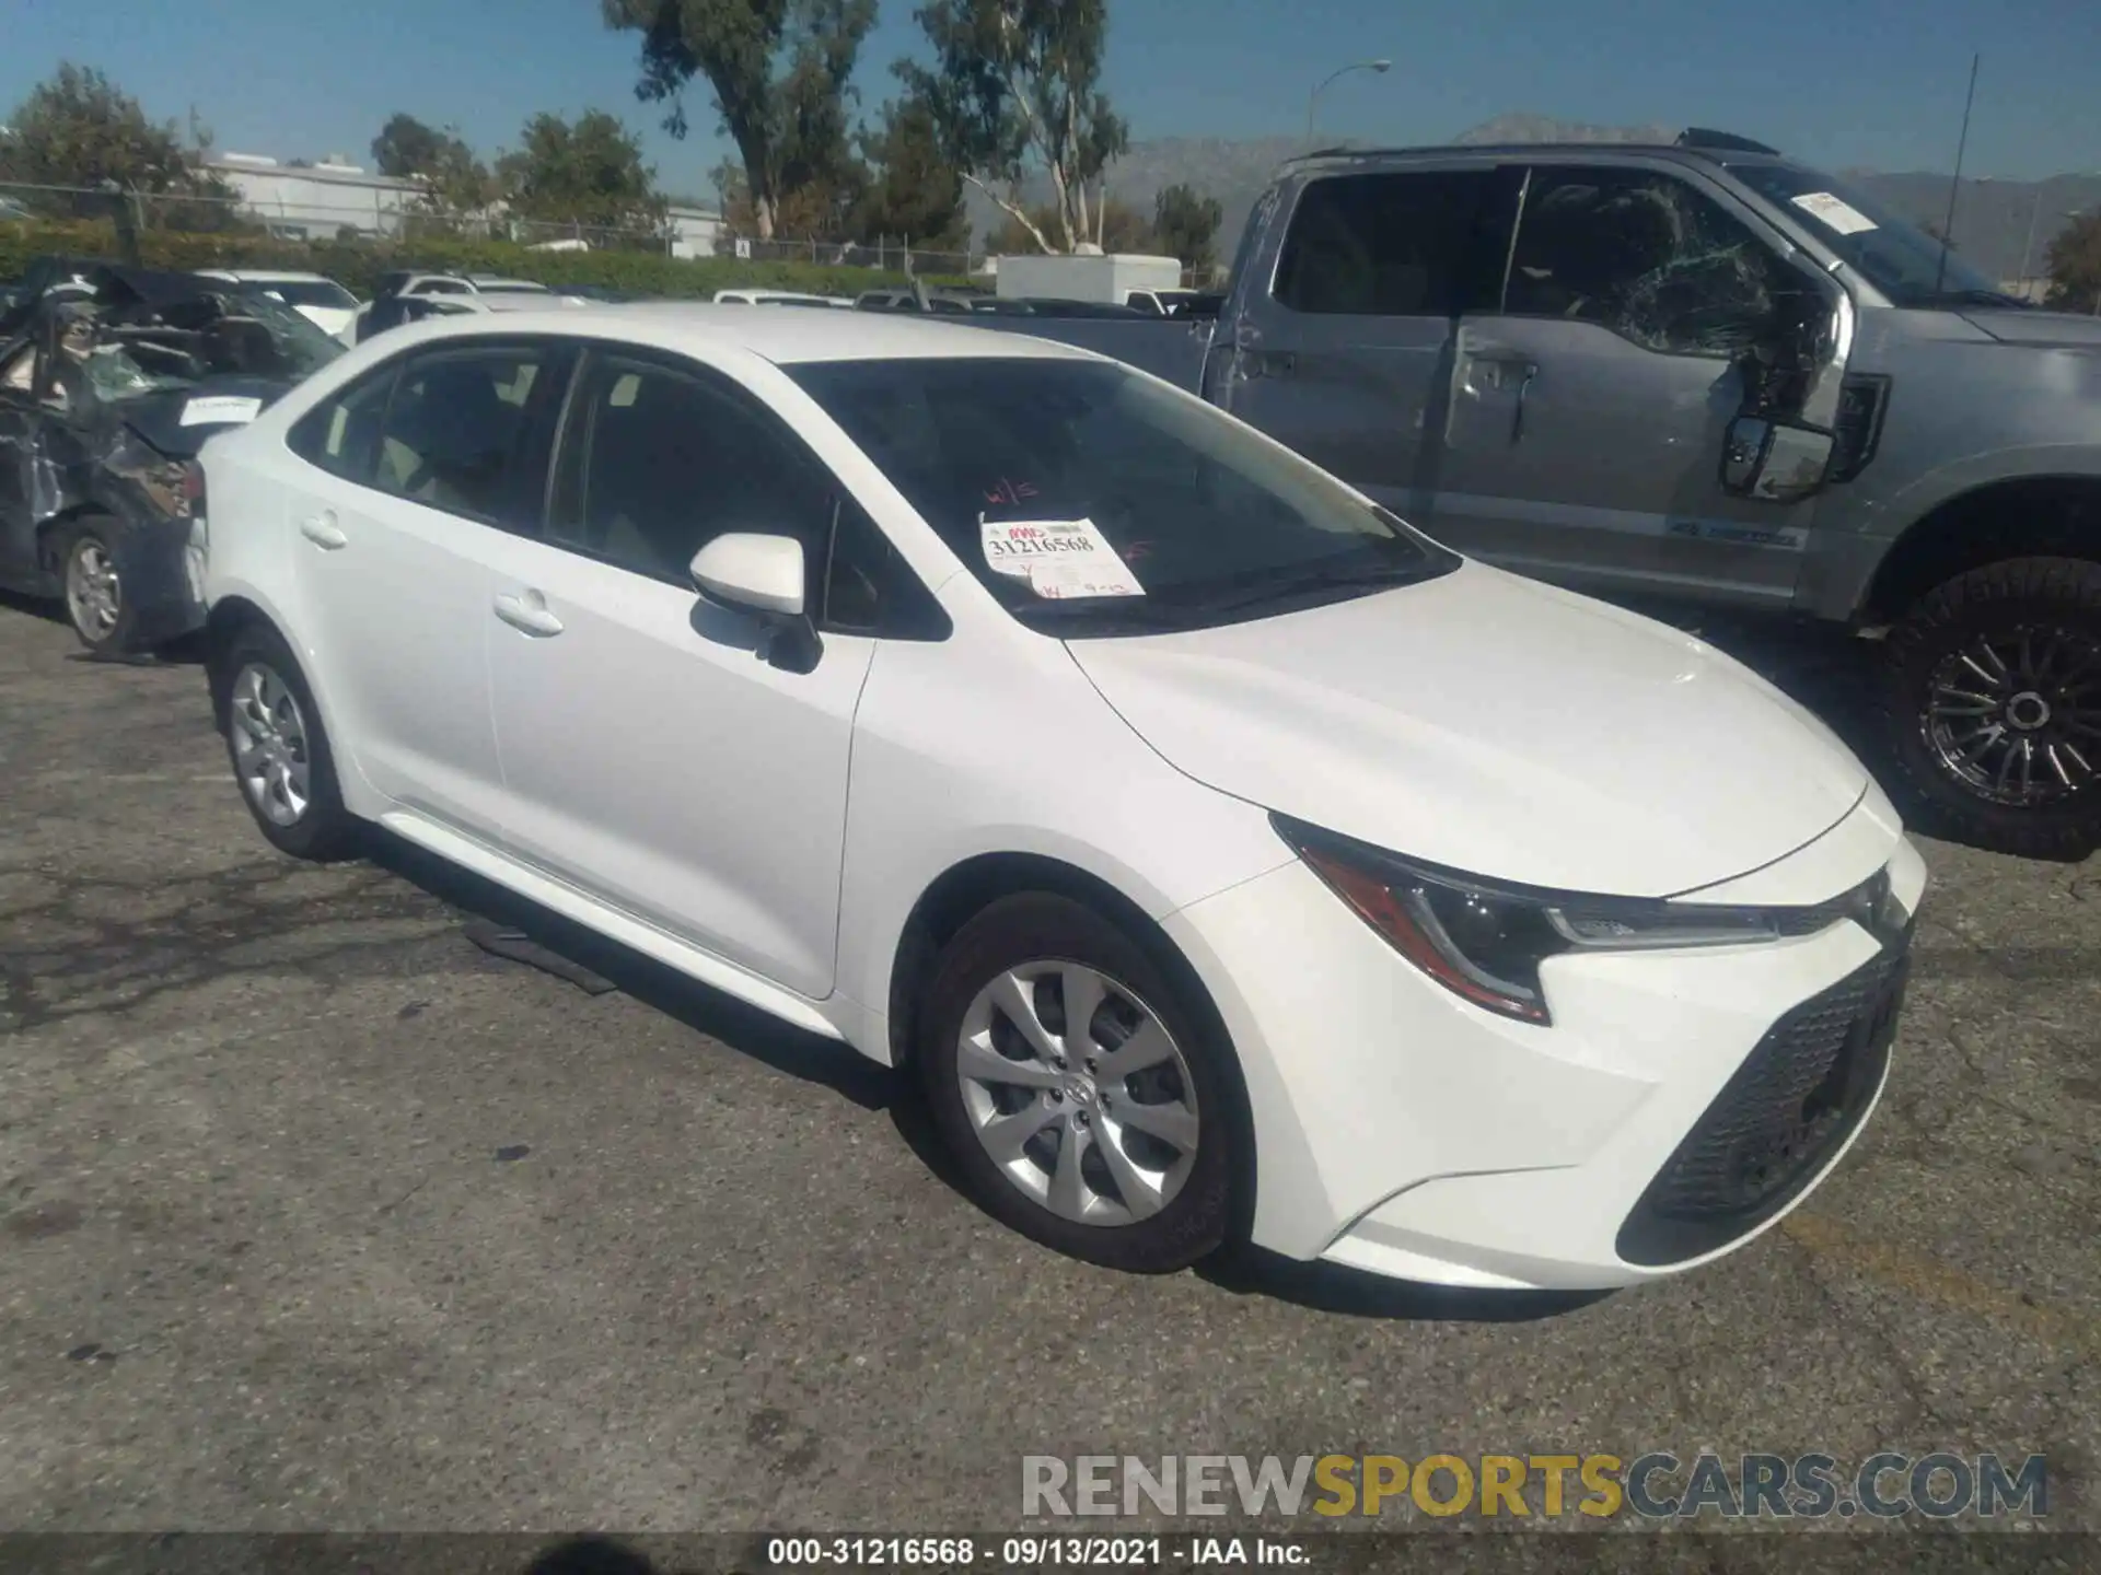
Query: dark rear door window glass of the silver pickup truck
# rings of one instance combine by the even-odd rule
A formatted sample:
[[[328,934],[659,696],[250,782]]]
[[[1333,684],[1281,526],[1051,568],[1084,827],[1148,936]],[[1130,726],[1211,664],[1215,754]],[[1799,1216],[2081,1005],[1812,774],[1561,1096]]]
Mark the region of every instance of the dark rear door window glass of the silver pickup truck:
[[[1456,317],[1479,298],[1473,260],[1490,185],[1488,170],[1313,181],[1277,256],[1277,302],[1351,317]]]

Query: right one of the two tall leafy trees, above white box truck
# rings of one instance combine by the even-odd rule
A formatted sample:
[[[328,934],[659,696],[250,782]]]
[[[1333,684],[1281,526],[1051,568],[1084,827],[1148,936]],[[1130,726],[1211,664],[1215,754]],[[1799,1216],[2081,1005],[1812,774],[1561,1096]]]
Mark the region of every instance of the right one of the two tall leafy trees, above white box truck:
[[[927,103],[962,178],[1032,233],[1038,250],[1101,239],[1086,185],[1130,145],[1097,86],[1107,38],[1105,0],[927,0],[916,13],[933,69],[897,74]],[[1053,225],[1021,202],[1032,174],[1050,183]]]

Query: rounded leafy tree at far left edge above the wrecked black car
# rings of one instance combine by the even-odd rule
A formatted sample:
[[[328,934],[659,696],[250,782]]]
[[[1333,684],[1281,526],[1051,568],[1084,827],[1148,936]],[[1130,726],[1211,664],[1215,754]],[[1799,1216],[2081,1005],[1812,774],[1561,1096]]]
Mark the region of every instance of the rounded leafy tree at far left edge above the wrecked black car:
[[[210,134],[195,122],[191,126],[200,147],[208,145]],[[71,63],[61,63],[8,116],[0,136],[0,181],[88,189],[113,181],[141,195],[206,200],[185,202],[181,212],[170,204],[151,204],[149,212],[162,223],[183,229],[225,229],[233,223],[233,189],[210,170],[195,168],[172,120],[149,120],[139,101],[107,76]]]

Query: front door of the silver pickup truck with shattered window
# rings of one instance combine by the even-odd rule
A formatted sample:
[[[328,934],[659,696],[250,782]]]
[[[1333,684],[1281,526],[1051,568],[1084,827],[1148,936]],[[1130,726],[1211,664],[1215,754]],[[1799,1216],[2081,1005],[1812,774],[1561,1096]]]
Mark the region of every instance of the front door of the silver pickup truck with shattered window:
[[[1500,302],[1458,321],[1431,529],[1597,590],[1786,605],[1815,498],[1723,491],[1744,351],[1803,281],[1672,168],[1536,164]]]

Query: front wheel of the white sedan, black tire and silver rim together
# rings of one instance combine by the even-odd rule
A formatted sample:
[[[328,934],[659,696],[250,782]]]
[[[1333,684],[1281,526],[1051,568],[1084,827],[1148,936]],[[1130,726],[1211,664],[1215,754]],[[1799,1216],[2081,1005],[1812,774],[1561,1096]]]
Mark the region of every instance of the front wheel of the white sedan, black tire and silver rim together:
[[[1065,1000],[1095,991],[1074,1035]],[[1145,1275],[1233,1233],[1252,1174],[1237,1063],[1210,1012],[1101,914],[1046,892],[992,903],[943,949],[916,1021],[935,1128],[987,1214]]]

